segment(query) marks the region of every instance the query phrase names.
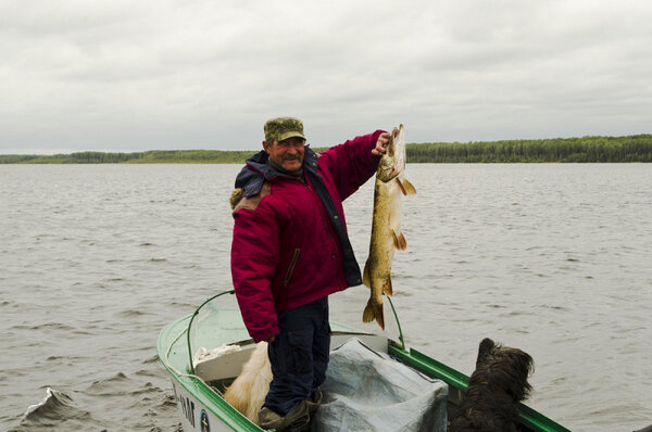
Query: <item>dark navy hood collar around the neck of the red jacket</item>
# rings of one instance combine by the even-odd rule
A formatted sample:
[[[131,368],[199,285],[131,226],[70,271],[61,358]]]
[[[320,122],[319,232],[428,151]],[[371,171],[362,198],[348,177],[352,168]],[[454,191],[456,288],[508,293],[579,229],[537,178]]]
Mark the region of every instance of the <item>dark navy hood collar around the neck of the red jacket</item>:
[[[268,158],[269,155],[267,152],[261,150],[247,160],[247,166],[236,177],[236,189],[242,189],[244,198],[256,195],[261,191],[263,181],[265,180],[271,181],[278,176],[290,177],[287,174],[279,173],[267,164]],[[303,169],[318,176],[317,158],[317,153],[305,145]]]

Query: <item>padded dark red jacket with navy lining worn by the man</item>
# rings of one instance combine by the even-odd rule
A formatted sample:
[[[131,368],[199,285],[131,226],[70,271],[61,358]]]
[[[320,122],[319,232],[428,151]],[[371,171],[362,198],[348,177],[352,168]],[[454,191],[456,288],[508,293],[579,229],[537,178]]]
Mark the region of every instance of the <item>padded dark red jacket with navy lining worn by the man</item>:
[[[306,148],[305,183],[274,170],[265,152],[247,161],[236,180],[244,198],[234,212],[231,277],[255,342],[278,333],[277,312],[362,283],[341,202],[376,171],[379,156],[372,149],[381,132],[336,145],[318,158]],[[315,173],[325,189],[315,185]],[[330,200],[322,199],[321,190]]]

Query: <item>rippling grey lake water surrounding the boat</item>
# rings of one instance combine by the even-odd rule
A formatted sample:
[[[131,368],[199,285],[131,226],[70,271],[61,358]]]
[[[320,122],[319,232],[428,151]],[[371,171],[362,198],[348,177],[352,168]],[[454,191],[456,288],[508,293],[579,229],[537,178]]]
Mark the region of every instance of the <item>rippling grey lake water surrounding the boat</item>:
[[[155,341],[230,289],[239,168],[0,165],[0,430],[180,429]],[[567,428],[651,424],[652,164],[408,178],[393,265],[408,345],[471,373],[490,336],[535,358],[528,405]],[[372,201],[367,182],[346,203],[361,266]],[[338,295],[358,319],[368,291]]]

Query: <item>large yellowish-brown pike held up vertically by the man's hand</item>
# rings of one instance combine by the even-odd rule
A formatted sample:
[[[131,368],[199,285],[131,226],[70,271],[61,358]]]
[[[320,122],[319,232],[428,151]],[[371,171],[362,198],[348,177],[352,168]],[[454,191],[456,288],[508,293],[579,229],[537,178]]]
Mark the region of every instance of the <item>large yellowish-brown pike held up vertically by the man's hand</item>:
[[[392,295],[391,262],[394,250],[408,246],[401,232],[401,198],[416,189],[405,179],[405,131],[403,125],[391,134],[387,153],[380,158],[374,189],[374,218],[369,256],[364,266],[363,283],[371,288],[362,320],[378,321],[385,330],[383,294]]]

